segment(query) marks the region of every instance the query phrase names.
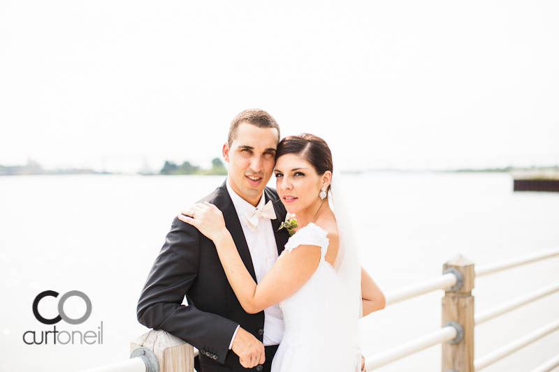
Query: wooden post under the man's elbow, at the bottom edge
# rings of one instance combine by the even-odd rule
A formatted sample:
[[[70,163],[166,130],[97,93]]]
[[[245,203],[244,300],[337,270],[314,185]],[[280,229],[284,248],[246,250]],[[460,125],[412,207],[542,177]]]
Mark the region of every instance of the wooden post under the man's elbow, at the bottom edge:
[[[148,348],[154,352],[159,362],[159,372],[194,371],[194,348],[192,345],[165,331],[154,331],[152,329],[136,338],[130,343],[130,352],[132,353],[138,348]]]

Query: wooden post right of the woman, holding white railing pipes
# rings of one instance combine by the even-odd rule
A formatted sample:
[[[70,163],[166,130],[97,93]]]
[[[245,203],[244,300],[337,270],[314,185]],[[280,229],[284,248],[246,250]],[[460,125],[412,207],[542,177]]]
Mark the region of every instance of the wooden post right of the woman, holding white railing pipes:
[[[444,264],[443,272],[459,271],[463,278],[460,289],[447,288],[442,297],[442,325],[457,322],[463,329],[458,343],[442,343],[442,372],[475,372],[474,370],[474,262],[457,255]],[[455,272],[456,272],[455,271]]]

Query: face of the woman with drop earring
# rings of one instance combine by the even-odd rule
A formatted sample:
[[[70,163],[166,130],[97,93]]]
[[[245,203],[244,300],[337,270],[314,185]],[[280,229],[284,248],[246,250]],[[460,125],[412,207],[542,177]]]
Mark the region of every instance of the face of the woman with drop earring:
[[[277,158],[274,172],[277,193],[289,213],[297,214],[319,202],[323,177],[303,158],[295,154],[282,155]]]

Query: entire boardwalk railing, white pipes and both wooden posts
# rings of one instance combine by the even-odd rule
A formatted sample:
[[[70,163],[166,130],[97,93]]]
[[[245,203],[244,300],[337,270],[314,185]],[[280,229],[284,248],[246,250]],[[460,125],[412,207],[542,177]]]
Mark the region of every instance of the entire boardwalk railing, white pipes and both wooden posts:
[[[408,341],[395,348],[379,352],[366,358],[365,368],[372,371],[416,352],[442,344],[442,372],[481,371],[498,360],[511,355],[559,329],[559,319],[544,327],[511,341],[507,345],[474,359],[474,326],[496,318],[537,299],[559,291],[559,283],[534,290],[509,302],[474,315],[474,279],[530,262],[559,256],[559,248],[526,255],[522,258],[504,260],[492,265],[483,265],[474,270],[474,262],[456,256],[443,266],[443,275],[422,283],[386,293],[386,305],[405,301],[435,290],[444,290],[442,297],[442,328],[430,334]],[[558,309],[559,313],[559,309]],[[89,369],[87,372],[191,372],[197,351],[164,331],[150,331],[131,343],[131,359]],[[549,372],[559,366],[559,352],[530,372]]]

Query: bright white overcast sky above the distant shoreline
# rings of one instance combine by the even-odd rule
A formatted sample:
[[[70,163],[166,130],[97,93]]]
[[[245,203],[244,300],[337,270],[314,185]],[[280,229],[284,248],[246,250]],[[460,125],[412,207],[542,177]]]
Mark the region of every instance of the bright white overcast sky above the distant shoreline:
[[[0,164],[209,168],[259,107],[361,168],[559,163],[558,1],[0,2]]]

